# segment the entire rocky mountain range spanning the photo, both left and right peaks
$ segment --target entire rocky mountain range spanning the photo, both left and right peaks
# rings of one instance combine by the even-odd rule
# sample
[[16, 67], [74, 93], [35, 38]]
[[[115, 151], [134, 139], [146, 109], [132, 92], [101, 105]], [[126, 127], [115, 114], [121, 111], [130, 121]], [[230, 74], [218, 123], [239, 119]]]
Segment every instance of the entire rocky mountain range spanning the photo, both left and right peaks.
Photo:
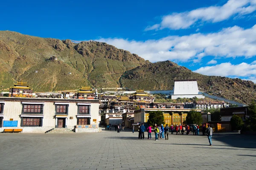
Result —
[[255, 99], [256, 84], [241, 79], [205, 76], [174, 62], [145, 61], [137, 54], [104, 42], [73, 43], [0, 31], [0, 86], [28, 82], [33, 91], [126, 87], [172, 90], [174, 79], [198, 80], [200, 91], [241, 103]]

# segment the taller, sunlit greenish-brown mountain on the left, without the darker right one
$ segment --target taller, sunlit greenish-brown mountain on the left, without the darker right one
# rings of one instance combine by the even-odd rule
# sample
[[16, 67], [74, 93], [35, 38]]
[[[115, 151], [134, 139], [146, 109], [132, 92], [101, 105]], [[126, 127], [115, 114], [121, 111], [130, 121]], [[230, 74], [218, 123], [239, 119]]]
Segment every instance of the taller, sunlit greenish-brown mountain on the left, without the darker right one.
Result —
[[0, 85], [28, 82], [34, 91], [119, 87], [125, 71], [148, 63], [104, 42], [73, 43], [0, 31]]

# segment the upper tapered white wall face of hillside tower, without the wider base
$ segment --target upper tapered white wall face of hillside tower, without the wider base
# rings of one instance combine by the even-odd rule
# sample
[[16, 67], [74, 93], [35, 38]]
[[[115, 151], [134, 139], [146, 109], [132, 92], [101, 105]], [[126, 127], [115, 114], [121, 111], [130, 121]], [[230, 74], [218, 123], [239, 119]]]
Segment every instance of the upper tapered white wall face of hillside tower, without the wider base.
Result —
[[174, 94], [198, 94], [197, 81], [174, 82]]

